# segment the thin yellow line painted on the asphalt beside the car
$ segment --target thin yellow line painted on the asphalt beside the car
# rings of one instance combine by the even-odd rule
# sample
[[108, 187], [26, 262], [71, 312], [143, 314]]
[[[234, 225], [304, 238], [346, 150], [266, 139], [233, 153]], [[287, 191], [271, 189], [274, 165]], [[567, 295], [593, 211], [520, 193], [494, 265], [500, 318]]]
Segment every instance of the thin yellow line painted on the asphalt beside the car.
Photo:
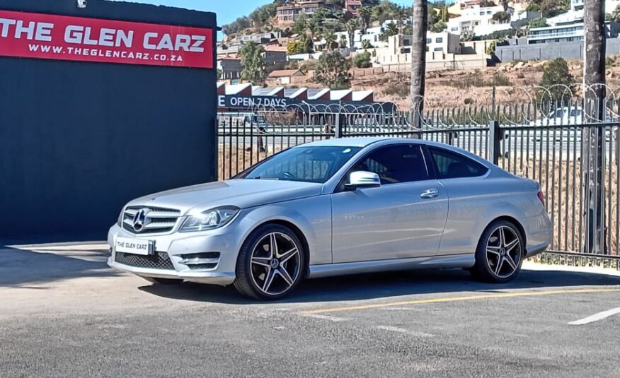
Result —
[[311, 309], [308, 311], [302, 311], [302, 314], [326, 314], [328, 312], [345, 312], [345, 311], [355, 311], [359, 309], [376, 309], [376, 308], [391, 307], [391, 306], [424, 305], [427, 303], [461, 302], [461, 301], [466, 301], [466, 300], [488, 300], [488, 299], [512, 298], [512, 297], [533, 297], [536, 295], [611, 293], [611, 292], [620, 292], [620, 288], [617, 288], [617, 289], [567, 289], [567, 290], [527, 291], [527, 292], [519, 292], [519, 293], [466, 295], [466, 296], [461, 296], [461, 297], [443, 297], [443, 298], [431, 298], [427, 300], [406, 300], [406, 301], [401, 301], [401, 302], [377, 303], [374, 305], [359, 305], [359, 306], [348, 306], [348, 307], [333, 307], [333, 308], [326, 308], [326, 309]]

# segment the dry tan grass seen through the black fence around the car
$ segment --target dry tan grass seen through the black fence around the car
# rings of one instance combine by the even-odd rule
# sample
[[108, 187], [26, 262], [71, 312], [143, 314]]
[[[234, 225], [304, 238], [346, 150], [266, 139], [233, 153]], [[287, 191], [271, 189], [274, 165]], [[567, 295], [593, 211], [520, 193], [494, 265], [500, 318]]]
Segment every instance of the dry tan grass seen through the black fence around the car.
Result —
[[[266, 152], [258, 152], [257, 146], [252, 150], [243, 150], [242, 147], [219, 146], [219, 179], [228, 179], [236, 173], [250, 167], [264, 158], [277, 153], [282, 148], [270, 148]], [[585, 206], [582, 204], [582, 189], [580, 178], [580, 161], [567, 161], [566, 156], [562, 163], [556, 161], [549, 166], [541, 159], [512, 156], [512, 160], [500, 160], [500, 166], [521, 177], [527, 177], [540, 182], [546, 194], [546, 206], [553, 220], [554, 238], [550, 249], [557, 251], [580, 252], [584, 250], [585, 223], [583, 214]], [[560, 160], [559, 157], [556, 160]], [[617, 203], [619, 201], [618, 170], [615, 164], [607, 166], [605, 181], [606, 190], [605, 224], [608, 230], [607, 248], [612, 254], [618, 254], [620, 222]], [[609, 184], [611, 183], [611, 184]], [[609, 194], [611, 191], [611, 195]], [[611, 203], [609, 202], [611, 200]], [[611, 205], [611, 206], [609, 206]], [[611, 208], [611, 211], [609, 209]]]

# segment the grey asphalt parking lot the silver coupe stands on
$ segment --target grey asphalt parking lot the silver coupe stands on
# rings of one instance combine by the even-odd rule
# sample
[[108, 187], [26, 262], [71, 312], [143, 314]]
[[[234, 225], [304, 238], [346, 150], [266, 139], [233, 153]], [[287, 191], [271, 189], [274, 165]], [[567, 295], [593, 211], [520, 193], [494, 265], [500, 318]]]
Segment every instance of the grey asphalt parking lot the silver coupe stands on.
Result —
[[258, 303], [105, 259], [105, 245], [0, 249], [0, 377], [620, 377], [620, 272], [371, 274]]

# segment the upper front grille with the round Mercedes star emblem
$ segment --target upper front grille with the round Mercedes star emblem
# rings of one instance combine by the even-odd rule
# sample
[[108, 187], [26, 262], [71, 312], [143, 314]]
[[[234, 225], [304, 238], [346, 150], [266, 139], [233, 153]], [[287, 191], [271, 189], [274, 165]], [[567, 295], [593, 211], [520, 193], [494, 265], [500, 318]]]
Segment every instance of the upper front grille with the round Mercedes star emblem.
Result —
[[[142, 211], [139, 224], [136, 215]], [[180, 211], [173, 208], [156, 208], [151, 206], [130, 206], [122, 215], [122, 228], [139, 235], [171, 232], [180, 216]], [[137, 227], [138, 226], [138, 227]]]

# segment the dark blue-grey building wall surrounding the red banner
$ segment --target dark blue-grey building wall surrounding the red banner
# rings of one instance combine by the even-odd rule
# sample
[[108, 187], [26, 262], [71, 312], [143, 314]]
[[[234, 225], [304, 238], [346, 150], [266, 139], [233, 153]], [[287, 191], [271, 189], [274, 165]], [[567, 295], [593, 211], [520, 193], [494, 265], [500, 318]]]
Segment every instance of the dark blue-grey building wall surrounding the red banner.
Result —
[[[214, 13], [116, 1], [0, 9], [217, 25]], [[103, 240], [130, 199], [217, 179], [215, 87], [214, 69], [0, 57], [0, 242]]]

